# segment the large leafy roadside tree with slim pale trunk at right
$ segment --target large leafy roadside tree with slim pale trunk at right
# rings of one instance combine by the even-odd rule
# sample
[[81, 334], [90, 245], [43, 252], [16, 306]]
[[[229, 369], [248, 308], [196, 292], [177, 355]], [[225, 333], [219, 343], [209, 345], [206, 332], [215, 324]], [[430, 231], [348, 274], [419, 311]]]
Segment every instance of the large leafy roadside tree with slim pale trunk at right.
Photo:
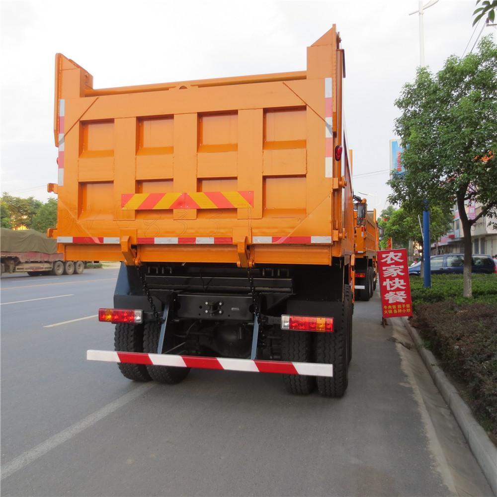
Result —
[[[395, 104], [404, 147], [403, 175], [389, 181], [390, 201], [419, 211], [425, 199], [442, 210], [457, 204], [463, 228], [464, 296], [471, 297], [471, 227], [497, 216], [497, 46], [484, 38], [478, 53], [449, 57], [432, 75], [417, 70]], [[468, 202], [481, 212], [469, 219]]]

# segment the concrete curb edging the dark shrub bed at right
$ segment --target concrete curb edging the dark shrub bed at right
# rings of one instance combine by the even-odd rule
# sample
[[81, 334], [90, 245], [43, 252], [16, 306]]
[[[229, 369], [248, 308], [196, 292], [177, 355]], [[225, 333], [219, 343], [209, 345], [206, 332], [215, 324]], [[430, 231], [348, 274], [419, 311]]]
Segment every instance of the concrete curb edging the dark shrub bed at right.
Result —
[[445, 373], [438, 366], [435, 356], [426, 350], [421, 342], [419, 333], [413, 328], [407, 318], [401, 318], [406, 330], [411, 335], [419, 355], [421, 356], [426, 369], [428, 370], [433, 383], [442, 394], [443, 399], [449, 406], [452, 414], [456, 418], [464, 438], [470, 446], [471, 452], [475, 456], [480, 468], [487, 478], [492, 492], [497, 496], [497, 448], [487, 435], [487, 432], [480, 426], [469, 406], [464, 402], [456, 388], [447, 379]]

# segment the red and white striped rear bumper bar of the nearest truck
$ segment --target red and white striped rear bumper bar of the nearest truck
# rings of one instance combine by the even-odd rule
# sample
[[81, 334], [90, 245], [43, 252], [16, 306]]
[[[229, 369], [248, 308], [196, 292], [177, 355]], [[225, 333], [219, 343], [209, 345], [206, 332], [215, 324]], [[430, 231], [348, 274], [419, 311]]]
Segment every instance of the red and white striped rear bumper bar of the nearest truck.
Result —
[[145, 354], [142, 352], [114, 352], [112, 350], [87, 350], [88, 361], [124, 362], [150, 366], [180, 368], [222, 369], [249, 373], [282, 373], [307, 376], [333, 376], [332, 364], [311, 362], [252, 361], [226, 357], [198, 357], [191, 355]]

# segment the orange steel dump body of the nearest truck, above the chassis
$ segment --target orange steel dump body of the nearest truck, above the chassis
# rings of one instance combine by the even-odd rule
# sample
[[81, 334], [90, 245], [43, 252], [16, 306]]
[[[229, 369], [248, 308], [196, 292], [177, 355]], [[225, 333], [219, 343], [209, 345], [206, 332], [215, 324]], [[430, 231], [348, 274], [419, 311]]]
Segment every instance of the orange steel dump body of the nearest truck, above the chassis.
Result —
[[[293, 73], [94, 89], [87, 71], [57, 54], [63, 160], [49, 190], [59, 195], [59, 250], [128, 264], [331, 264], [352, 255], [343, 78], [334, 25], [307, 48], [306, 71]], [[231, 244], [140, 243], [213, 237]]]

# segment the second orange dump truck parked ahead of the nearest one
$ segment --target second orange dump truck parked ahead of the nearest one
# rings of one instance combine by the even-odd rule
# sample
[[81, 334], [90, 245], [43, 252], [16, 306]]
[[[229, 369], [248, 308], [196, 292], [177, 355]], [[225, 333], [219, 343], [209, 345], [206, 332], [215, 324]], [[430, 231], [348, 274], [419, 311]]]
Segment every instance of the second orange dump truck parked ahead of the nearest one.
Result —
[[354, 196], [354, 288], [356, 300], [369, 300], [376, 290], [378, 267], [376, 252], [380, 249], [376, 209], [367, 210], [365, 198]]

